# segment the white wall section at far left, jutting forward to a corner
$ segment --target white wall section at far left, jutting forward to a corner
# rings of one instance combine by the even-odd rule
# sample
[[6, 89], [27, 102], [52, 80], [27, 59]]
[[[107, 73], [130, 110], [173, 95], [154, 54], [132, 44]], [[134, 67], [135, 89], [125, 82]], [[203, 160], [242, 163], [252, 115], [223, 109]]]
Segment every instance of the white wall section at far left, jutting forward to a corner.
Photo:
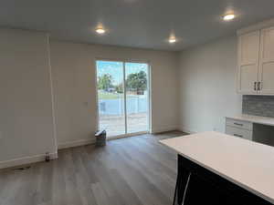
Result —
[[0, 29], [0, 168], [56, 156], [48, 38]]

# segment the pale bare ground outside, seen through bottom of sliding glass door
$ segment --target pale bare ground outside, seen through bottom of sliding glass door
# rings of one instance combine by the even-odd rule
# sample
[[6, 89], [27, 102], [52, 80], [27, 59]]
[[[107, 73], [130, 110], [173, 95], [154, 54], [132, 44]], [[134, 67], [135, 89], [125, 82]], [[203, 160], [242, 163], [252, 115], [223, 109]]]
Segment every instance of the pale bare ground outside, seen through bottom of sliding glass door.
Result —
[[[147, 113], [130, 114], [127, 118], [128, 133], [147, 131], [148, 115]], [[107, 130], [107, 137], [113, 137], [125, 134], [123, 116], [100, 116], [100, 129]]]

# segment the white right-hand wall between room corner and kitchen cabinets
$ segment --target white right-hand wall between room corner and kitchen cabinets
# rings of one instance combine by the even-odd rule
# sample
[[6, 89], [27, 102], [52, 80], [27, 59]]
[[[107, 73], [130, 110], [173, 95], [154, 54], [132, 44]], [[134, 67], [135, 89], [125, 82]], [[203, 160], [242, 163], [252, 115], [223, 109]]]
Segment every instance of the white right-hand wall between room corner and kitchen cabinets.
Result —
[[238, 113], [241, 96], [237, 95], [237, 37], [181, 52], [181, 129], [224, 132], [225, 117]]

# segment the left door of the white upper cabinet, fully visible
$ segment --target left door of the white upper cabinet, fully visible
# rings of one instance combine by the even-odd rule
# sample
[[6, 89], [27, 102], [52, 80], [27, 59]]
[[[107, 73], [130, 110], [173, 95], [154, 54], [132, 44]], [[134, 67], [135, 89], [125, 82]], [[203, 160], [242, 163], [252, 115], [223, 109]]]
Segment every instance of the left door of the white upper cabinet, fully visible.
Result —
[[257, 94], [259, 31], [238, 38], [238, 91]]

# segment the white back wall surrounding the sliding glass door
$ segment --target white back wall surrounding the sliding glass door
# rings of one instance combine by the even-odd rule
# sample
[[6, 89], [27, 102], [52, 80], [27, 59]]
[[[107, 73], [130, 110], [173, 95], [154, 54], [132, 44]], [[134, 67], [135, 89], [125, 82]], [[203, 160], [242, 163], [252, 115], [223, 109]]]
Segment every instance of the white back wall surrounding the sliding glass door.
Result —
[[50, 48], [59, 147], [94, 138], [96, 58], [150, 61], [153, 132], [178, 128], [176, 53], [58, 41], [51, 41]]

